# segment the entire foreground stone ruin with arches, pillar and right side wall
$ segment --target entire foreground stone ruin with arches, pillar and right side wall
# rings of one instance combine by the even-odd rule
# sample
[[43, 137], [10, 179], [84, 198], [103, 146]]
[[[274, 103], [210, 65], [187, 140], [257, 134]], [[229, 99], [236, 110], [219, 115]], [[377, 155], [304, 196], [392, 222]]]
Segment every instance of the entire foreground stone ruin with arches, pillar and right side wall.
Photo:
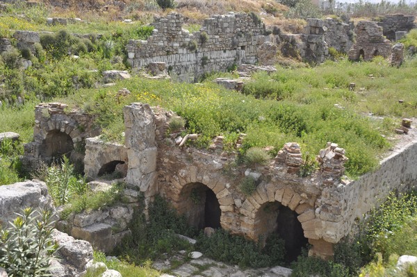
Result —
[[[341, 178], [347, 160], [344, 149], [329, 143], [318, 153], [320, 170], [302, 178], [302, 149], [295, 142], [285, 144], [267, 166], [234, 168], [231, 164], [236, 153], [224, 152], [222, 137], [213, 140], [213, 147], [202, 150], [183, 145], [186, 138], [179, 133], [166, 136], [170, 120], [177, 116], [162, 108], [143, 103], [125, 106], [125, 143], [119, 145], [90, 137], [94, 132], [89, 128], [72, 133], [68, 126], [82, 118], [88, 127], [90, 119], [64, 107], [59, 103], [37, 106], [35, 142], [28, 146], [45, 150], [38, 151], [37, 156], [27, 151], [26, 158], [48, 161], [53, 156], [51, 150], [47, 151], [49, 147], [56, 153], [65, 153], [71, 144], [67, 136], [71, 142], [79, 137], [76, 141], [85, 138], [86, 142], [84, 162], [88, 178], [114, 171], [125, 174], [124, 195], [129, 203], [101, 210], [99, 215], [74, 215], [60, 223], [60, 230], [105, 251], [129, 232], [126, 226], [141, 192], [145, 203], [161, 194], [197, 228], [224, 228], [251, 240], [279, 233], [286, 240], [289, 258], [297, 257], [307, 242], [313, 245], [310, 255], [330, 258], [333, 245], [350, 232], [355, 221], [377, 199], [394, 189], [406, 190], [417, 178], [416, 142], [384, 160], [377, 171], [352, 182]], [[56, 125], [57, 118], [63, 119], [60, 126]], [[47, 137], [52, 135], [60, 143], [49, 143]], [[256, 183], [256, 191], [249, 196], [240, 191], [240, 183], [246, 178]], [[92, 182], [91, 186], [94, 190], [106, 190], [111, 184]]]

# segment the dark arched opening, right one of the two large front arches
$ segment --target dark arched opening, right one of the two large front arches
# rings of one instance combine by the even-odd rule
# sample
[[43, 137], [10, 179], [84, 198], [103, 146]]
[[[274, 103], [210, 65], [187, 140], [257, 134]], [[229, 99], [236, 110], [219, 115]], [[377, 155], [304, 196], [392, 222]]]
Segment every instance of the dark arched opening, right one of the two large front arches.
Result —
[[257, 233], [263, 235], [264, 238], [277, 233], [285, 241], [286, 262], [297, 260], [302, 249], [309, 242], [304, 237], [304, 230], [297, 216], [295, 211], [278, 201], [264, 203], [256, 212]]

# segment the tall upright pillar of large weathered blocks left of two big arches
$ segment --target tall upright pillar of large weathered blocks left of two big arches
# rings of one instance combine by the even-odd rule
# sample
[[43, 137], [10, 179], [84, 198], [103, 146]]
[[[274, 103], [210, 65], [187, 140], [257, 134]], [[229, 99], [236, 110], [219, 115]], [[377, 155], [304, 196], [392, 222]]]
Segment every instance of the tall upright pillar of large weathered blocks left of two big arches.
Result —
[[148, 104], [131, 103], [123, 108], [125, 146], [129, 167], [126, 183], [138, 187], [145, 197], [154, 196], [156, 187], [156, 124]]

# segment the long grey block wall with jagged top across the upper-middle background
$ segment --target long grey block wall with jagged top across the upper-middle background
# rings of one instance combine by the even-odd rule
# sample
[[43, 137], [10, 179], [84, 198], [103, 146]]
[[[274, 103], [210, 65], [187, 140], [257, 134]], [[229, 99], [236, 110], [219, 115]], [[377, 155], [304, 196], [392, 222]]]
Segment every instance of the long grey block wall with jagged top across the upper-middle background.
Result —
[[165, 62], [171, 76], [195, 81], [207, 72], [256, 62], [257, 48], [264, 42], [262, 22], [243, 13], [214, 15], [193, 34], [182, 28], [183, 22], [177, 13], [156, 17], [147, 40], [131, 40], [126, 46], [132, 67]]

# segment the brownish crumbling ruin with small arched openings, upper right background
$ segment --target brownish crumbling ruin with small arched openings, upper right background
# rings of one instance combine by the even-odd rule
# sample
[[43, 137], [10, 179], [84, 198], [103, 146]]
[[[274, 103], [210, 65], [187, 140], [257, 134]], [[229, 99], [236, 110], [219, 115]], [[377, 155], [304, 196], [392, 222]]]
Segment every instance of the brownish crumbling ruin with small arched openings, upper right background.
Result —
[[354, 28], [356, 43], [349, 51], [350, 60], [372, 60], [375, 56], [388, 58], [393, 45], [382, 34], [382, 27], [377, 22], [361, 21]]

